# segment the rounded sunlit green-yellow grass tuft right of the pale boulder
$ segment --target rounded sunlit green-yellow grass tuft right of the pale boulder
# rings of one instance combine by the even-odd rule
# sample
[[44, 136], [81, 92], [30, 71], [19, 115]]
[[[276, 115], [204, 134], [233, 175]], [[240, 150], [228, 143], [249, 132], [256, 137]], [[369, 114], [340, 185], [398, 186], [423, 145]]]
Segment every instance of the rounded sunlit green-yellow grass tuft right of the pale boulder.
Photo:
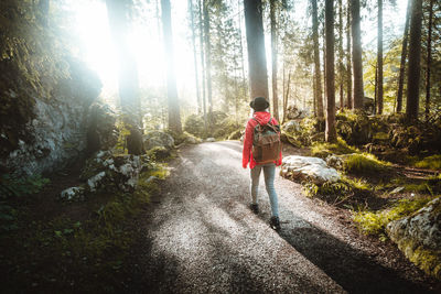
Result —
[[343, 170], [348, 173], [375, 173], [386, 171], [388, 166], [390, 163], [380, 161], [370, 153], [362, 153], [349, 155], [343, 164]]

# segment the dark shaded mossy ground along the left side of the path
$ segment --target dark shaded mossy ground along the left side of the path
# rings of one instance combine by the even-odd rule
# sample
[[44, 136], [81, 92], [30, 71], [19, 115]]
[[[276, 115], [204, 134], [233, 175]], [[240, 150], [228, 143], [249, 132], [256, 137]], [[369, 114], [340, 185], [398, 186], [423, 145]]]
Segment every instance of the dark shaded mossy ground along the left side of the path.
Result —
[[[78, 175], [79, 172], [76, 173]], [[143, 173], [132, 194], [101, 194], [85, 203], [55, 200], [75, 176], [58, 176], [40, 193], [14, 200], [15, 228], [0, 236], [3, 290], [26, 292], [120, 292], [127, 252], [136, 239], [131, 219], [158, 189], [166, 168]]]

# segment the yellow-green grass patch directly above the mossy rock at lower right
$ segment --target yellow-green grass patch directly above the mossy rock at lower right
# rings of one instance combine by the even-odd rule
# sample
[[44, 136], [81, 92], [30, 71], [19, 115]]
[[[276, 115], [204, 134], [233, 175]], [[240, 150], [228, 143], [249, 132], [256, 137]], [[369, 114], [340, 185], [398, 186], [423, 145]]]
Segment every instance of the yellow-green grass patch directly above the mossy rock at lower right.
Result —
[[353, 219], [362, 232], [366, 235], [379, 235], [385, 238], [385, 228], [387, 224], [413, 214], [432, 199], [432, 197], [401, 199], [389, 209], [354, 213]]

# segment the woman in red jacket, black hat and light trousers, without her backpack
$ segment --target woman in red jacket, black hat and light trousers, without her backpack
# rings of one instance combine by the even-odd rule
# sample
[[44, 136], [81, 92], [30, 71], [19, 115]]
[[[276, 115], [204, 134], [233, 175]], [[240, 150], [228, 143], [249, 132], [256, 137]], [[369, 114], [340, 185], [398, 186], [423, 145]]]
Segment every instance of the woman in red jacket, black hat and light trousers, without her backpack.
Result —
[[270, 225], [271, 228], [275, 230], [280, 229], [280, 221], [279, 221], [279, 207], [277, 200], [277, 194], [275, 189], [275, 174], [276, 174], [276, 165], [279, 166], [282, 162], [282, 153], [280, 152], [279, 157], [271, 163], [259, 164], [255, 161], [252, 156], [252, 142], [254, 142], [254, 131], [256, 126], [259, 123], [260, 126], [265, 126], [268, 122], [272, 123], [273, 126], [278, 126], [276, 119], [271, 118], [271, 115], [266, 111], [269, 107], [269, 102], [263, 97], [255, 98], [249, 106], [254, 109], [252, 118], [248, 120], [247, 128], [245, 130], [245, 138], [244, 138], [244, 150], [241, 156], [241, 165], [244, 168], [247, 168], [249, 163], [249, 168], [251, 168], [251, 205], [250, 208], [255, 214], [259, 213], [259, 205], [257, 200], [257, 194], [259, 188], [259, 177], [260, 172], [263, 168], [263, 176], [265, 176], [265, 185], [267, 187], [269, 202], [271, 204], [271, 220]]

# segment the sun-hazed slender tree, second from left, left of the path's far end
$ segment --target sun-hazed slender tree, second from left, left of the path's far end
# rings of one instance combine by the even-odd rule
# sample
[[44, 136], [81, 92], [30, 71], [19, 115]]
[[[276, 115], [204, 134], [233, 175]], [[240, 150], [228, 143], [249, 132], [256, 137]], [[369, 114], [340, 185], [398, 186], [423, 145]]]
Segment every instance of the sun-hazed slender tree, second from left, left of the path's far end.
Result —
[[174, 74], [173, 31], [170, 0], [161, 0], [161, 10], [164, 50], [166, 57], [166, 96], [169, 101], [169, 128], [176, 133], [182, 133], [176, 78]]

